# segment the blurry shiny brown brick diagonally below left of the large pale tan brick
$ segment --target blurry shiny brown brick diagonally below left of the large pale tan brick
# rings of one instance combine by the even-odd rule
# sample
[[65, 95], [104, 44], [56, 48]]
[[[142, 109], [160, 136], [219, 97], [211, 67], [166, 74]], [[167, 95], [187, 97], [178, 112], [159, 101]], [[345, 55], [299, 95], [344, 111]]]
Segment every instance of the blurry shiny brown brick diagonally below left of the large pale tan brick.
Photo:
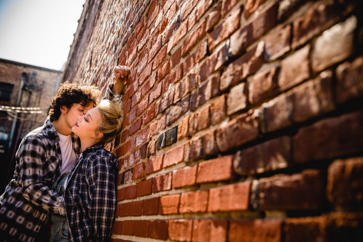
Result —
[[292, 90], [292, 120], [304, 122], [334, 109], [333, 74], [321, 73], [315, 80], [308, 81]]

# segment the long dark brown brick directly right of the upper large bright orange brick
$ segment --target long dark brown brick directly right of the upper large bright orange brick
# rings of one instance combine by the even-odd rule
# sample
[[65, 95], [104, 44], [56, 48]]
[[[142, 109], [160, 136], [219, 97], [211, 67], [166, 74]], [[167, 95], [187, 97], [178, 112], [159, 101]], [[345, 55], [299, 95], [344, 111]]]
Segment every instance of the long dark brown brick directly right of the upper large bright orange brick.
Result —
[[286, 168], [291, 163], [292, 139], [283, 136], [238, 151], [233, 159], [234, 172], [241, 175]]

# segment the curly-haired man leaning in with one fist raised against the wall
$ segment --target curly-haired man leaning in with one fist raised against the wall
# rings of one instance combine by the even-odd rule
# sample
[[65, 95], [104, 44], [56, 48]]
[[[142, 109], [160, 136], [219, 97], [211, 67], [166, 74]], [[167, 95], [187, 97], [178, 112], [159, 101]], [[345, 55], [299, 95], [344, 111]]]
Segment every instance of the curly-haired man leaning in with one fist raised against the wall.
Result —
[[[115, 67], [115, 82], [108, 86], [108, 98], [122, 93], [129, 72], [129, 67]], [[64, 200], [51, 187], [59, 175], [75, 165], [81, 146], [72, 127], [100, 97], [96, 86], [63, 83], [52, 99], [44, 125], [23, 138], [16, 153], [14, 178], [0, 196], [2, 241], [41, 241], [47, 214], [65, 215], [64, 205], [60, 206]]]

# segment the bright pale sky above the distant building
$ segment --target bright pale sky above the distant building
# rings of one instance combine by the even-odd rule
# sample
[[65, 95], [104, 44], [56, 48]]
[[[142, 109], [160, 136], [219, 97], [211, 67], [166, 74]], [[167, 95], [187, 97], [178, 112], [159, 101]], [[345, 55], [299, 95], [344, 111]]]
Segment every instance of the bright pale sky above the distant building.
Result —
[[86, 0], [0, 0], [0, 58], [61, 70]]

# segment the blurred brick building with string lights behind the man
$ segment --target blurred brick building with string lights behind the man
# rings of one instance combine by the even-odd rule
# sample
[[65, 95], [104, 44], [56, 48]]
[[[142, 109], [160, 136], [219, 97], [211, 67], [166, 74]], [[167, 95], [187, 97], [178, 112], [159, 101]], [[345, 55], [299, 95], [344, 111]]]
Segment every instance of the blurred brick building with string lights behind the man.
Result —
[[42, 126], [62, 71], [0, 58], [0, 192], [13, 176], [24, 135]]

